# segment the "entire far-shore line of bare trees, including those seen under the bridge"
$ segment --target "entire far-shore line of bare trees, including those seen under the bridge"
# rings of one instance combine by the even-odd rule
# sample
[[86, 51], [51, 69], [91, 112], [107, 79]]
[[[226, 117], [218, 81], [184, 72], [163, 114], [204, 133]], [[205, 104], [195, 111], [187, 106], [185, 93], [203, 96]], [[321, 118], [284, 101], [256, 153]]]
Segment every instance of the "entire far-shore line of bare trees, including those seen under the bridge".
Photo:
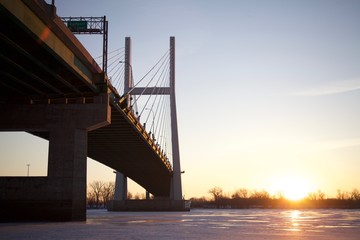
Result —
[[[93, 181], [87, 189], [88, 208], [106, 208], [114, 199], [115, 183]], [[271, 195], [266, 190], [240, 188], [225, 193], [221, 187], [209, 189], [210, 198], [191, 198], [192, 208], [360, 208], [360, 191], [337, 190], [335, 198], [327, 198], [321, 190], [311, 192], [302, 200], [291, 201], [283, 193]], [[128, 192], [127, 199], [145, 199], [145, 193]]]

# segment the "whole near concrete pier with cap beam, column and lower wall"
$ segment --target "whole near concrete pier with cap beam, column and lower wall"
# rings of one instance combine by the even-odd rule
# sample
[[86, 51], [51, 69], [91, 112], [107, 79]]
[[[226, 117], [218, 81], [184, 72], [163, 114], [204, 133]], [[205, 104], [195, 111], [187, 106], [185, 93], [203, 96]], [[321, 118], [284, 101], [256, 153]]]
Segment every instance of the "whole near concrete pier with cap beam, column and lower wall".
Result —
[[87, 133], [110, 123], [108, 96], [94, 104], [4, 104], [0, 111], [0, 130], [49, 138], [47, 177], [0, 178], [0, 221], [85, 221]]

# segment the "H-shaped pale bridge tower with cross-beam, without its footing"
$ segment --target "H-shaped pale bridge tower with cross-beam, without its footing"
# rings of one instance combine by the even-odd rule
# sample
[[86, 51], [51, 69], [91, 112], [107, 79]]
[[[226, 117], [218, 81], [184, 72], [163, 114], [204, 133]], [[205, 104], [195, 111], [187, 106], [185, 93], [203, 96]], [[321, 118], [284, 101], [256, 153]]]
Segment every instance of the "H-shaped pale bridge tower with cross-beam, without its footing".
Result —
[[[131, 39], [125, 38], [125, 77], [124, 77], [124, 92], [127, 96], [127, 106], [131, 106], [131, 100], [136, 95], [156, 95], [156, 89], [134, 87], [131, 65]], [[170, 37], [170, 86], [165, 87], [161, 91], [162, 95], [170, 96], [170, 119], [171, 119], [171, 141], [172, 141], [172, 155], [173, 155], [173, 175], [170, 186], [170, 200], [182, 200], [182, 186], [181, 186], [181, 167], [180, 167], [180, 151], [179, 151], [179, 137], [177, 126], [177, 112], [176, 112], [176, 98], [175, 98], [175, 37]], [[156, 87], [155, 87], [156, 88]], [[127, 178], [120, 172], [116, 173], [115, 182], [115, 200], [126, 200], [127, 195]], [[147, 192], [148, 198], [148, 192]]]

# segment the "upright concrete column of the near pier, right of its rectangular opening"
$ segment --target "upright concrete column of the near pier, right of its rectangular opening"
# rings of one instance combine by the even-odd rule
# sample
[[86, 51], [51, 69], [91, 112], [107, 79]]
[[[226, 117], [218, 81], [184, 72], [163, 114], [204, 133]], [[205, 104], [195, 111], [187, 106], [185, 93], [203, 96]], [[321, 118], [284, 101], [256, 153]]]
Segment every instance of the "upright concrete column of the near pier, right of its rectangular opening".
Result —
[[86, 220], [87, 131], [68, 121], [61, 125], [49, 132], [50, 197], [61, 203], [56, 211], [60, 219]]

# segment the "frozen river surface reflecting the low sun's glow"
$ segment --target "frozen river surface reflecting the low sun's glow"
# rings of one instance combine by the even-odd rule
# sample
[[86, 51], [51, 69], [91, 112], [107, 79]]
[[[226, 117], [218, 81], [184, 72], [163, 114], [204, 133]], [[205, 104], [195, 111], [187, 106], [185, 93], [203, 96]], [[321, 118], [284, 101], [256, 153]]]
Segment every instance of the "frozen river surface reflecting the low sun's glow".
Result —
[[360, 239], [360, 210], [89, 210], [87, 218], [0, 223], [0, 239]]

